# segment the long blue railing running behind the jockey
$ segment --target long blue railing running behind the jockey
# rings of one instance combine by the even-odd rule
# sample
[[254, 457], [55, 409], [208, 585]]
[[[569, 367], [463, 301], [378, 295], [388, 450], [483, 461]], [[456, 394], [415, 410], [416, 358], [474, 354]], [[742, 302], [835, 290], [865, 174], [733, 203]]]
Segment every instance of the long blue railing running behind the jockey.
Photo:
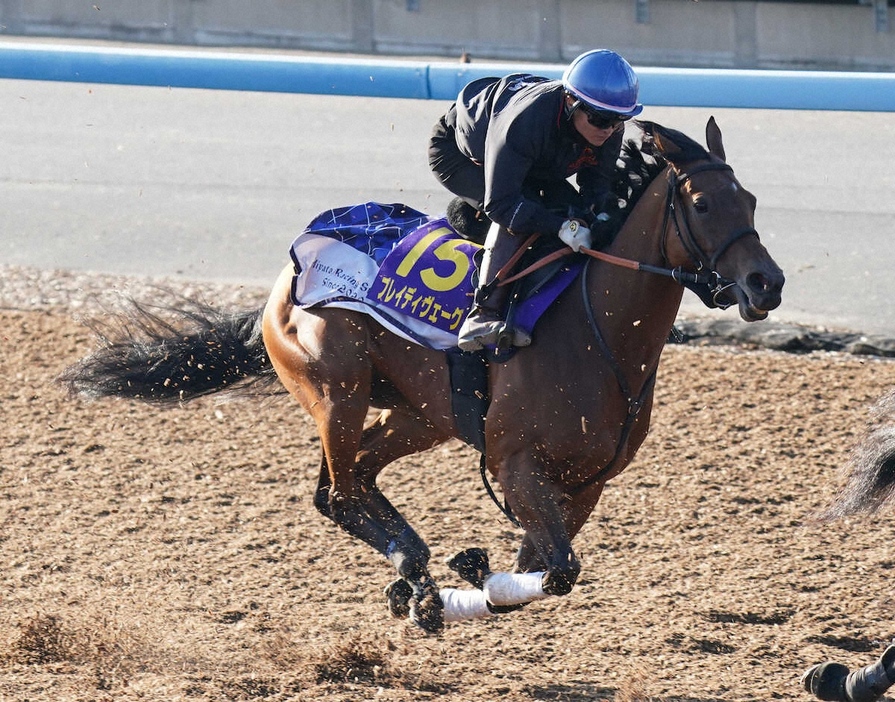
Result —
[[[676, 107], [895, 111], [895, 74], [636, 66], [641, 101]], [[0, 78], [453, 100], [485, 75], [556, 64], [462, 64], [0, 42]]]

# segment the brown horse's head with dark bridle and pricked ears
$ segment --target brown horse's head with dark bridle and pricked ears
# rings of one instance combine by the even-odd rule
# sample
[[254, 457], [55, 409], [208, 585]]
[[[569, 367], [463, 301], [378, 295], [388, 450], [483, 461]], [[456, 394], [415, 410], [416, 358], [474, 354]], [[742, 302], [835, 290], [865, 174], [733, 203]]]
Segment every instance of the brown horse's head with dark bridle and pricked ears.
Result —
[[747, 322], [764, 319], [780, 305], [784, 276], [759, 241], [755, 196], [727, 165], [715, 118], [706, 126], [708, 151], [675, 130], [651, 122], [640, 126], [670, 166], [665, 232], [669, 263], [730, 281], [723, 293], [727, 304], [735, 301]]

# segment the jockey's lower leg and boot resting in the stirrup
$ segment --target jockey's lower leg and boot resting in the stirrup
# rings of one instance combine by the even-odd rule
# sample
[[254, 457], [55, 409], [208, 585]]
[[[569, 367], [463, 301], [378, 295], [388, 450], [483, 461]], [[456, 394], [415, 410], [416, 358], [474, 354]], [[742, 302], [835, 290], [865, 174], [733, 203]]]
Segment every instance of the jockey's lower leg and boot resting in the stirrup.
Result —
[[[463, 351], [478, 351], [485, 346], [497, 344], [498, 341], [504, 345], [517, 346], [527, 346], [531, 343], [531, 338], [524, 332], [515, 335], [513, 330], [506, 329], [503, 308], [509, 287], [497, 285], [496, 280], [498, 271], [507, 264], [523, 243], [524, 238], [511, 234], [497, 224], [488, 230], [473, 308], [460, 327], [457, 339], [457, 345]], [[510, 335], [509, 338], [506, 337], [507, 334]]]

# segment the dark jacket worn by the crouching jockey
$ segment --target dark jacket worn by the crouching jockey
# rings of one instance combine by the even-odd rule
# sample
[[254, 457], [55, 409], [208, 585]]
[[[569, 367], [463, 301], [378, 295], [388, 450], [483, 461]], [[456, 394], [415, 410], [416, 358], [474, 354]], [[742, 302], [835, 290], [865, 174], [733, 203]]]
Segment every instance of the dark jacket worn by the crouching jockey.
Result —
[[600, 206], [624, 129], [595, 147], [578, 134], [560, 81], [516, 73], [469, 83], [445, 117], [460, 151], [485, 170], [485, 213], [518, 234], [556, 232], [567, 215], [524, 192], [576, 176], [585, 207]]

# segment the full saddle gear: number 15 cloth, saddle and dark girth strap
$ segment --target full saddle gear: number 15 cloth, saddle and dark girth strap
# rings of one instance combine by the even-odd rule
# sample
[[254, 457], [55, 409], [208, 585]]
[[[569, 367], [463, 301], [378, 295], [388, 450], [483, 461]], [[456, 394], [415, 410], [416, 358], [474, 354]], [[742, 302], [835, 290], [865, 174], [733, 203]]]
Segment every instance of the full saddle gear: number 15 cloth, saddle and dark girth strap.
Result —
[[[538, 238], [508, 278], [520, 276], [508, 283], [513, 287], [505, 314], [529, 334], [583, 265], [571, 256], [536, 265], [561, 247], [556, 237]], [[483, 451], [488, 363], [506, 362], [514, 351], [466, 353], [456, 346], [456, 329], [472, 303], [473, 260], [481, 247], [458, 237], [445, 219], [401, 203], [368, 202], [321, 213], [296, 238], [290, 254], [296, 306], [363, 312], [403, 338], [446, 353], [461, 438]]]

